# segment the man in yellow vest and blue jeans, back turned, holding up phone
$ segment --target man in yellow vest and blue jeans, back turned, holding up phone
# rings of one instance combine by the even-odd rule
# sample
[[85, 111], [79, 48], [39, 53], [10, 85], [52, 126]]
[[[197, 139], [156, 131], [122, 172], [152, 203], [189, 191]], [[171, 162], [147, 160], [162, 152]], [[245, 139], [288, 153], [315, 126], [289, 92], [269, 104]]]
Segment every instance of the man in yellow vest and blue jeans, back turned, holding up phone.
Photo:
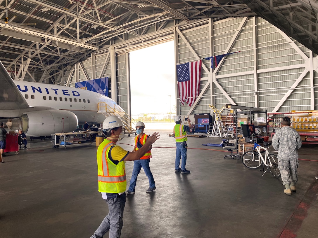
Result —
[[[188, 121], [189, 126], [181, 125], [181, 116], [175, 116], [176, 125], [173, 128], [173, 135], [176, 138], [176, 166], [175, 172], [181, 172], [181, 174], [189, 174], [190, 170], [185, 169], [185, 163], [187, 162], [187, 131], [191, 128], [191, 123], [189, 118], [185, 118]], [[180, 160], [181, 169], [180, 169]]]

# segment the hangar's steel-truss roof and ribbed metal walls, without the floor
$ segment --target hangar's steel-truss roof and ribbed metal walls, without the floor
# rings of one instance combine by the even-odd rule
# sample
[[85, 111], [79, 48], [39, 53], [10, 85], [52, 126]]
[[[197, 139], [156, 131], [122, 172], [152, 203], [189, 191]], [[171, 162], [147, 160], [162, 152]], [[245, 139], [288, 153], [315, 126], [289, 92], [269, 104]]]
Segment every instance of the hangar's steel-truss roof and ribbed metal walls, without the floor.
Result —
[[240, 51], [214, 70], [203, 60], [198, 100], [189, 107], [177, 98], [177, 114], [226, 103], [317, 107], [312, 1], [3, 0], [0, 8], [0, 61], [15, 80], [74, 87], [109, 77], [109, 96], [131, 115], [129, 51], [174, 40], [176, 64]]

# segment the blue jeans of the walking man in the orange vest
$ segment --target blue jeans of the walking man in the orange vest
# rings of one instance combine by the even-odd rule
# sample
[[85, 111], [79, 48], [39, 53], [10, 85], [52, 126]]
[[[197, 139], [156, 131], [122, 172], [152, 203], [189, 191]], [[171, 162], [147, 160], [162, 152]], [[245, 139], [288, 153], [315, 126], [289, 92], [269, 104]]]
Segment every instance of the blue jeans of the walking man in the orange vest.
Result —
[[150, 163], [150, 159], [134, 161], [133, 174], [131, 175], [130, 184], [128, 188], [129, 191], [135, 192], [137, 177], [140, 173], [141, 168], [145, 171], [145, 174], [147, 175], [149, 179], [149, 188], [155, 187], [155, 180], [154, 180], [154, 176], [152, 175], [150, 171], [149, 163]]

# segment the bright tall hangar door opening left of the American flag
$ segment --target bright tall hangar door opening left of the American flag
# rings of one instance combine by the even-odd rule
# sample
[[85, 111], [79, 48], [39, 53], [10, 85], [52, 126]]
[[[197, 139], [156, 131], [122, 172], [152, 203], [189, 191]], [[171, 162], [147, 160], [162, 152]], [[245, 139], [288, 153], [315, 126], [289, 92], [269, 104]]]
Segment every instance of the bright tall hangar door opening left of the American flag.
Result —
[[174, 41], [129, 52], [131, 116], [142, 122], [174, 122]]

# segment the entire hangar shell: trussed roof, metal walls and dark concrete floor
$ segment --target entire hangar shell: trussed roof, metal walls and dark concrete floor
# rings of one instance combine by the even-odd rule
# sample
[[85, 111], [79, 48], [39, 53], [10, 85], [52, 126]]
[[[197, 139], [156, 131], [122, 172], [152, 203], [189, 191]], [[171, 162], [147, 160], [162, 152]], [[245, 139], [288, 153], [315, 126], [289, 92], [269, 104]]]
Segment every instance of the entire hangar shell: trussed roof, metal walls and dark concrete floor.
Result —
[[[2, 0], [0, 9], [0, 61], [14, 80], [74, 87], [109, 77], [109, 96], [131, 115], [129, 52], [173, 40], [176, 65], [240, 51], [215, 69], [203, 59], [199, 96], [191, 107], [177, 97], [176, 114], [211, 113], [209, 105], [225, 104], [268, 113], [317, 110], [315, 1]], [[191, 173], [176, 174], [171, 129], [159, 131], [152, 150], [157, 189], [146, 194], [148, 178], [139, 175], [122, 237], [318, 233], [315, 146], [299, 151], [297, 193], [286, 196], [280, 178], [223, 159], [224, 149], [202, 148], [220, 138], [189, 138]], [[133, 139], [125, 137], [123, 148], [131, 150]], [[107, 214], [96, 187], [96, 148], [51, 147], [35, 141], [1, 164], [4, 237], [89, 237]], [[133, 164], [126, 166], [129, 178]]]

